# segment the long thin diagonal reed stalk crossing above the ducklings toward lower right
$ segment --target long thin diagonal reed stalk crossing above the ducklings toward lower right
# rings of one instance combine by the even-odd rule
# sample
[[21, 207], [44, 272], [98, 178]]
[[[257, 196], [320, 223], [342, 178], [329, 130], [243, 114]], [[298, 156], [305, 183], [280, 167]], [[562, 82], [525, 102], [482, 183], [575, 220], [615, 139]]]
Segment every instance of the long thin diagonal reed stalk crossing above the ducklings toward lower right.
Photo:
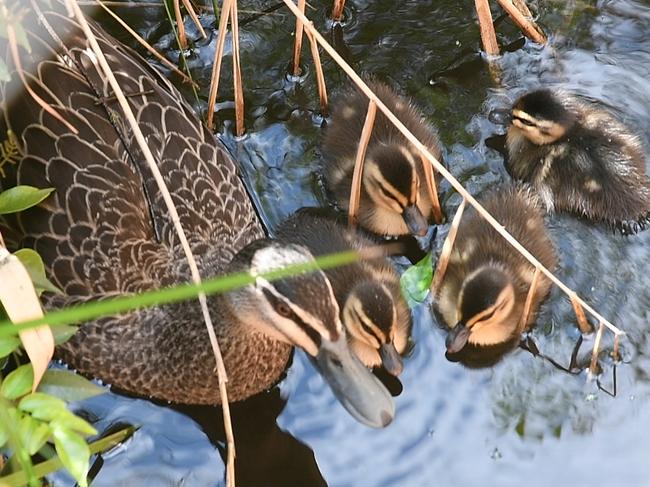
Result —
[[[474, 207], [476, 212], [481, 215], [481, 217], [486, 220], [495, 231], [501, 235], [512, 247], [515, 248], [517, 252], [524, 256], [524, 258], [530, 262], [536, 268], [539, 267], [540, 271], [548, 277], [548, 279], [558, 286], [562, 292], [566, 295], [571, 296], [571, 293], [575, 292], [566, 284], [564, 284], [560, 279], [558, 279], [555, 274], [549, 271], [546, 267], [539, 262], [535, 256], [533, 256], [528, 250], [521, 245], [517, 239], [510, 235], [506, 229], [501, 225], [481, 204], [476, 201], [470, 193], [463, 187], [462, 184], [443, 166], [440, 161], [438, 161], [433, 154], [429, 152], [427, 147], [420, 142], [417, 137], [415, 137], [411, 131], [406, 128], [406, 126], [399, 120], [393, 112], [391, 112], [388, 107], [373, 93], [373, 91], [368, 87], [368, 85], [359, 77], [359, 75], [352, 69], [352, 67], [340, 56], [338, 52], [325, 40], [325, 38], [312, 26], [307, 24], [309, 19], [301, 13], [297, 7], [291, 2], [291, 0], [282, 0], [283, 3], [291, 10], [291, 12], [305, 24], [305, 30], [309, 30], [322, 48], [331, 56], [332, 59], [345, 71], [345, 73], [350, 77], [350, 79], [357, 85], [360, 91], [365, 93], [368, 99], [375, 102], [377, 108], [382, 111], [382, 113], [391, 121], [391, 123], [406, 137], [406, 139], [413, 144], [413, 146], [420, 151], [425, 158], [433, 165], [434, 169], [438, 171], [442, 177], [444, 177], [449, 184], [463, 197], [467, 202]], [[577, 302], [586, 309], [594, 318], [602, 322], [607, 328], [609, 328], [613, 333], [624, 335], [625, 332], [621, 329], [614, 326], [609, 320], [604, 316], [598, 313], [592, 306], [590, 306], [584, 299], [576, 295]]]

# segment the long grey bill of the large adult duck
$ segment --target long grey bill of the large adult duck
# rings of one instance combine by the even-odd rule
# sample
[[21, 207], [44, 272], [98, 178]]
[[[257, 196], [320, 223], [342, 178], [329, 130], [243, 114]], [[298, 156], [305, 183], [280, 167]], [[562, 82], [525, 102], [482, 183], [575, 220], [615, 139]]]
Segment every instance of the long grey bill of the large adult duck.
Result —
[[312, 362], [345, 409], [372, 428], [388, 426], [395, 403], [384, 385], [357, 359], [341, 334], [336, 342], [323, 340]]

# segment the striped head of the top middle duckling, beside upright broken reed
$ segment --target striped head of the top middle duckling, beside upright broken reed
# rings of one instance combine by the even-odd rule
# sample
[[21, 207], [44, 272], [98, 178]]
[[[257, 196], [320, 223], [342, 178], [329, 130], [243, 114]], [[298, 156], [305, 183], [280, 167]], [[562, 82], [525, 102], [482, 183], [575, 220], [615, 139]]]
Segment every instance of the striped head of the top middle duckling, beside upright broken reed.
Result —
[[401, 215], [408, 232], [426, 235], [427, 219], [418, 208], [420, 178], [416, 159], [404, 145], [376, 145], [366, 157], [363, 187], [381, 210]]

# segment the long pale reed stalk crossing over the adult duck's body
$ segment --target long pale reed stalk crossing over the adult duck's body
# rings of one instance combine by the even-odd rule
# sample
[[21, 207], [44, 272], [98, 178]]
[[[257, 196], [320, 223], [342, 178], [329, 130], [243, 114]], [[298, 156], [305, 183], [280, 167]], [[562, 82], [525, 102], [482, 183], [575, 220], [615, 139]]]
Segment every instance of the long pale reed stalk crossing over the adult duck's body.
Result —
[[[88, 25], [88, 22], [86, 21], [86, 17], [81, 11], [81, 7], [79, 7], [79, 5], [77, 4], [77, 0], [68, 0], [68, 4], [72, 7], [74, 15], [77, 21], [79, 22], [79, 25], [81, 26], [81, 29], [83, 30], [86, 39], [88, 40], [88, 43], [90, 44], [91, 49], [93, 50], [95, 56], [97, 57], [97, 62], [99, 63], [101, 70], [106, 76], [111, 86], [111, 89], [113, 90], [118, 100], [118, 103], [120, 104], [120, 107], [124, 112], [124, 116], [126, 117], [131, 129], [133, 130], [133, 135], [135, 136], [138, 146], [140, 147], [140, 150], [142, 151], [142, 154], [147, 162], [147, 165], [151, 170], [151, 173], [158, 186], [158, 190], [160, 191], [160, 194], [162, 195], [163, 200], [165, 201], [165, 206], [167, 207], [167, 211], [169, 211], [170, 219], [174, 224], [174, 229], [176, 230], [179, 242], [185, 254], [185, 258], [187, 259], [187, 263], [189, 265], [190, 272], [192, 275], [192, 282], [195, 284], [200, 284], [201, 275], [199, 273], [199, 269], [196, 264], [196, 259], [194, 258], [190, 245], [187, 241], [187, 236], [185, 235], [185, 231], [183, 230], [183, 227], [180, 223], [178, 211], [176, 210], [171, 194], [169, 193], [169, 190], [165, 185], [165, 181], [162, 177], [162, 174], [160, 173], [160, 169], [158, 168], [158, 165], [156, 164], [156, 160], [151, 152], [151, 149], [147, 145], [147, 141], [145, 140], [144, 135], [140, 130], [140, 126], [138, 125], [138, 122], [135, 119], [133, 111], [131, 110], [131, 106], [129, 105], [129, 102], [127, 101], [126, 97], [124, 96], [124, 92], [122, 91], [120, 84], [117, 82], [117, 79], [115, 78], [115, 75], [111, 70], [111, 67], [106, 61], [106, 57], [104, 56], [104, 53], [99, 47], [97, 39], [95, 38], [95, 34], [90, 28], [90, 25]], [[221, 350], [219, 348], [217, 336], [214, 332], [214, 326], [212, 324], [212, 318], [210, 317], [210, 310], [208, 309], [208, 303], [205, 294], [204, 293], [199, 294], [198, 300], [201, 306], [201, 311], [203, 313], [203, 319], [205, 321], [205, 326], [208, 332], [208, 336], [210, 338], [210, 345], [212, 346], [212, 352], [214, 354], [214, 358], [216, 362], [217, 379], [219, 381], [219, 393], [221, 397], [221, 407], [223, 409], [226, 441], [228, 444], [226, 482], [229, 487], [234, 487], [235, 485], [235, 470], [234, 470], [235, 440], [232, 431], [232, 422], [230, 419], [230, 407], [228, 404], [228, 392], [226, 388], [226, 383], [228, 381], [226, 375], [226, 367], [223, 363], [223, 357], [221, 355]]]

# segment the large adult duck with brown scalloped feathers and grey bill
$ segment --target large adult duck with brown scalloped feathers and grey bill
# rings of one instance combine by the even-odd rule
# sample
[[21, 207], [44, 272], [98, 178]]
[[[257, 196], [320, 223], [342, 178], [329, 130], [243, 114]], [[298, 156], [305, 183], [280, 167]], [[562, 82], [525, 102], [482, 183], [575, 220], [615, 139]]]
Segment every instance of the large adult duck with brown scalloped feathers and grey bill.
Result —
[[[41, 8], [39, 2], [31, 5]], [[33, 26], [30, 43], [48, 50], [43, 59], [30, 60], [38, 76], [28, 79], [42, 103], [69, 125], [26, 94], [15, 72], [11, 85], [2, 86], [2, 96], [17, 96], [0, 104], [0, 133], [14, 131], [21, 157], [5, 167], [0, 191], [16, 184], [54, 188], [37, 207], [0, 217], [7, 246], [40, 253], [48, 277], [63, 290], [43, 296], [47, 309], [190, 282], [153, 174], [86, 37], [62, 4], [50, 5], [58, 10], [26, 17], [23, 24]], [[316, 271], [264, 278], [268, 271], [313, 262], [312, 254], [265, 238], [225, 146], [163, 76], [89, 22], [154, 151], [201, 275], [245, 271], [255, 277], [244, 287], [207, 297], [229, 400], [273, 386], [296, 346], [356, 419], [373, 427], [388, 424], [392, 398], [350, 350], [327, 277]], [[29, 54], [21, 56], [28, 65]], [[57, 356], [140, 396], [184, 404], [221, 401], [203, 315], [193, 300], [86, 322], [57, 347]]]

